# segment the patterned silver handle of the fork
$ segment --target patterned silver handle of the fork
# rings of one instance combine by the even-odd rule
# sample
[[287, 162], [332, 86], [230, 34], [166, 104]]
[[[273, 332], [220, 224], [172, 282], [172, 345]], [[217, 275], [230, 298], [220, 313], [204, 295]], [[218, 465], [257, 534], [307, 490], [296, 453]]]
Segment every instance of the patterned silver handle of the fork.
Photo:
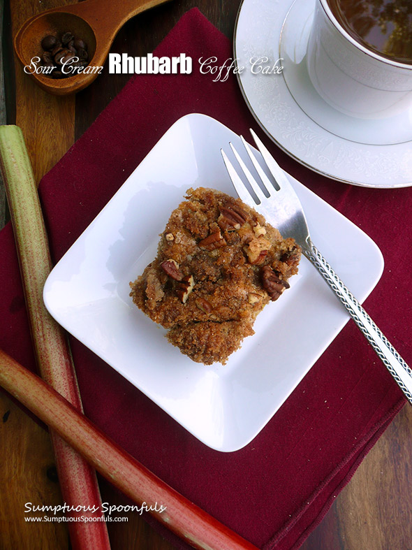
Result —
[[383, 335], [380, 328], [369, 317], [362, 305], [356, 300], [355, 296], [345, 287], [338, 275], [330, 267], [329, 263], [318, 251], [311, 239], [308, 238], [306, 245], [302, 247], [303, 254], [313, 263], [325, 281], [329, 284], [334, 294], [346, 307], [348, 314], [352, 317], [355, 324], [358, 325], [365, 338], [374, 348], [376, 354], [388, 368], [392, 377], [395, 378], [398, 386], [404, 392], [406, 399], [412, 405], [412, 370], [405, 363], [404, 359], [396, 351], [395, 347]]

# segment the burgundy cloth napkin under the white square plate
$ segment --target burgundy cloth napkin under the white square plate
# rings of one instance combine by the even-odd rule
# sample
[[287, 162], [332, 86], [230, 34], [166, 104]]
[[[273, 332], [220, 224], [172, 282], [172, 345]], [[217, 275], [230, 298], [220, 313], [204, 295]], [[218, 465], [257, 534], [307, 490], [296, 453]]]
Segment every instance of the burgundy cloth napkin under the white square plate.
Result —
[[[258, 131], [233, 75], [212, 82], [200, 74], [200, 57], [216, 55], [223, 63], [232, 53], [228, 38], [196, 9], [155, 53], [182, 52], [193, 58], [191, 75], [133, 76], [43, 178], [41, 198], [55, 261], [182, 115], [205, 113], [237, 133], [247, 133], [249, 126]], [[270, 148], [286, 170], [381, 248], [385, 270], [366, 307], [410, 361], [412, 189], [334, 182]], [[0, 270], [0, 346], [34, 369], [10, 226], [0, 233]], [[256, 439], [223, 454], [196, 440], [73, 338], [71, 345], [87, 416], [177, 491], [263, 549], [302, 544], [404, 403], [350, 321]], [[163, 534], [177, 548], [188, 548], [168, 531]]]

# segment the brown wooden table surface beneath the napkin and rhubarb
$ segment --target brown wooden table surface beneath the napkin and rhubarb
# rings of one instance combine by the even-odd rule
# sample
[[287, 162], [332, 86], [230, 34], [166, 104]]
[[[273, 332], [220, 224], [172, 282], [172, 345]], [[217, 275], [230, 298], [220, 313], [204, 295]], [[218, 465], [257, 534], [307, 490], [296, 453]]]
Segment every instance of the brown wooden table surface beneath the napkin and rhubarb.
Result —
[[[1, 0], [0, 0], [1, 1]], [[6, 75], [5, 115], [0, 82], [1, 124], [22, 127], [39, 181], [123, 87], [128, 75], [103, 73], [77, 96], [47, 95], [24, 75], [13, 60], [11, 38], [27, 17], [65, 0], [6, 0], [3, 36]], [[174, 0], [128, 22], [113, 45], [115, 52], [147, 55], [179, 17], [193, 6], [226, 36], [233, 36], [240, 0]], [[50, 138], [52, 136], [52, 138]], [[0, 186], [0, 226], [8, 220]], [[2, 419], [2, 420], [1, 420]], [[24, 503], [61, 502], [49, 436], [0, 393], [0, 550], [66, 550], [68, 532], [62, 523], [25, 523]], [[412, 549], [412, 408], [404, 407], [360, 465], [351, 482], [302, 550]], [[116, 504], [118, 495], [101, 482], [103, 500]], [[172, 550], [140, 516], [108, 524], [112, 549]]]

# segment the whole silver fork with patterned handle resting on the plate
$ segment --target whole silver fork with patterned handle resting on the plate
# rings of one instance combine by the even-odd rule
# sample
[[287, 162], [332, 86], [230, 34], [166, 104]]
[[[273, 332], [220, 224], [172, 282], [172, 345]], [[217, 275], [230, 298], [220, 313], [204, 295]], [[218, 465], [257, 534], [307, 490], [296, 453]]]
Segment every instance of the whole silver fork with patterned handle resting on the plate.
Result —
[[[230, 143], [230, 147], [235, 154], [242, 173], [247, 178], [258, 202], [256, 202], [256, 199], [249, 193], [242, 178], [240, 178], [240, 175], [222, 149], [221, 154], [223, 156], [223, 161], [226, 164], [230, 180], [232, 180], [237, 194], [244, 203], [258, 210], [258, 212], [265, 216], [269, 222], [271, 220], [276, 220], [277, 229], [279, 229], [282, 236], [295, 238], [295, 241], [302, 247], [304, 256], [306, 256], [316, 267], [318, 272], [321, 273], [332, 291], [334, 291], [334, 294], [336, 294], [337, 298], [339, 298], [344, 307], [346, 307], [348, 314], [352, 317], [353, 321], [355, 321], [355, 324], [360, 328], [363, 335], [365, 335], [369, 344], [374, 348], [376, 354], [378, 354], [379, 358], [388, 368], [390, 374], [395, 378], [400, 389], [404, 392], [406, 399], [409, 400], [409, 403], [412, 405], [411, 368], [409, 368], [404, 359], [402, 359], [396, 349], [388, 341], [388, 338], [383, 335], [374, 321], [372, 321], [353, 294], [348, 291], [344, 283], [339, 279], [338, 275], [334, 273], [334, 270], [332, 270], [329, 263], [322, 256], [321, 252], [319, 252], [314, 243], [312, 243], [302, 205], [295, 190], [279, 164], [277, 164], [265, 145], [263, 145], [262, 141], [256, 136], [256, 133], [251, 130], [251, 134], [278, 189], [275, 189], [274, 185], [265, 174], [265, 171], [263, 171], [263, 168], [258, 162], [255, 154], [253, 154], [249, 144], [240, 136], [256, 173], [260, 178], [262, 187], [260, 187], [256, 178], [252, 175], [251, 171], [249, 171], [246, 164], [244, 164], [242, 157], [237, 150], [235, 150], [233, 144]], [[268, 196], [265, 195], [262, 189], [265, 189]]]

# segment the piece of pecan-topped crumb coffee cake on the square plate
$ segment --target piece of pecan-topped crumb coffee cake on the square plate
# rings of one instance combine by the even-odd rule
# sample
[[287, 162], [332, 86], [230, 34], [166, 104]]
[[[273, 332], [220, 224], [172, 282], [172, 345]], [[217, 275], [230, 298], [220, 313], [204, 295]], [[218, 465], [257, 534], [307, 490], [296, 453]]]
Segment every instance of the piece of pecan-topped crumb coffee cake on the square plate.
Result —
[[300, 253], [239, 198], [189, 189], [131, 297], [183, 354], [224, 364], [253, 334], [257, 314], [289, 288]]

